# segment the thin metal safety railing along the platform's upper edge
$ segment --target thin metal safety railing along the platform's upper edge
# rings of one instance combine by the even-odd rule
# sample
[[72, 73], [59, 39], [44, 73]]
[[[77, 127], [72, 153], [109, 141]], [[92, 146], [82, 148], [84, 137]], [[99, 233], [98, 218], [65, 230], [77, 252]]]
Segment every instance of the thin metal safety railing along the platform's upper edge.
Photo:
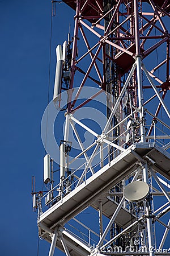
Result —
[[[130, 116], [129, 116], [130, 117]], [[39, 200], [39, 216], [42, 212], [45, 212], [46, 209], [51, 207], [52, 205], [56, 204], [58, 201], [63, 200], [63, 197], [65, 197], [68, 193], [73, 191], [75, 188], [77, 188], [80, 184], [86, 183], [87, 179], [94, 175], [95, 172], [99, 171], [103, 166], [110, 163], [110, 161], [116, 156], [120, 155], [122, 152], [126, 150], [129, 146], [135, 143], [140, 142], [140, 136], [139, 136], [139, 123], [137, 121], [134, 121], [134, 118], [130, 117], [129, 121], [126, 118], [125, 121], [120, 121], [118, 126], [124, 125], [128, 127], [127, 130], [123, 131], [120, 136], [114, 138], [109, 135], [113, 132], [114, 129], [116, 129], [116, 126], [113, 127], [108, 133], [106, 133], [106, 136], [104, 137], [103, 141], [103, 147], [100, 148], [99, 151], [97, 151], [94, 155], [89, 158], [89, 161], [91, 160], [91, 163], [94, 159], [96, 159], [96, 162], [94, 164], [88, 164], [87, 160], [84, 158], [84, 162], [80, 164], [78, 168], [75, 170], [70, 171], [70, 175], [65, 177], [65, 179], [60, 180], [60, 182], [50, 191], [45, 193], [45, 195], [40, 196]], [[151, 134], [147, 135], [147, 132], [151, 130]], [[159, 147], [162, 147], [164, 150], [168, 150], [170, 148], [170, 127], [164, 123], [159, 118], [153, 118], [151, 120], [150, 126], [145, 126], [146, 129], [146, 142], [154, 142]], [[113, 134], [113, 133], [112, 133]], [[99, 142], [99, 146], [101, 145], [101, 142]], [[115, 148], [114, 145], [118, 144], [118, 148]], [[97, 144], [97, 142], [94, 143], [94, 146]], [[112, 158], [110, 157], [109, 149], [112, 147]], [[88, 147], [84, 152], [88, 152], [92, 147]], [[107, 151], [105, 156], [103, 154], [103, 158], [101, 158], [101, 150]], [[77, 156], [73, 160], [71, 160], [71, 163], [76, 161], [76, 159], [80, 158], [83, 155], [83, 152]], [[94, 170], [94, 173], [91, 172], [90, 166]]]

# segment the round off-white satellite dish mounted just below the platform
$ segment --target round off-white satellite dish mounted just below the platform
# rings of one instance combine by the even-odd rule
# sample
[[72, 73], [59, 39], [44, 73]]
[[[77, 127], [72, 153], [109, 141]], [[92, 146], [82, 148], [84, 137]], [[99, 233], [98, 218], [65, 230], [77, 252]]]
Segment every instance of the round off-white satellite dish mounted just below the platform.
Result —
[[130, 202], [138, 202], [144, 200], [149, 192], [149, 186], [144, 181], [134, 181], [128, 184], [124, 189], [124, 197]]

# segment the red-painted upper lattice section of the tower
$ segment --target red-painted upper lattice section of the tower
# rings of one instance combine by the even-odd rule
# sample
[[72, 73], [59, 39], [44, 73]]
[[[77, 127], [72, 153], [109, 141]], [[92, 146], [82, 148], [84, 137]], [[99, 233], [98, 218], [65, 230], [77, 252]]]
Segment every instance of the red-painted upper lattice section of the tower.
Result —
[[[140, 2], [136, 1], [136, 7], [134, 9], [134, 3], [130, 0], [116, 0], [114, 6], [110, 6], [107, 13], [104, 11], [103, 0], [76, 0], [63, 1], [71, 8], [76, 11], [75, 14], [75, 27], [74, 27], [74, 38], [73, 38], [73, 55], [71, 60], [71, 81], [70, 89], [74, 89], [74, 76], [75, 72], [80, 72], [83, 75], [83, 79], [79, 81], [78, 92], [75, 98], [72, 98], [72, 91], [69, 92], [69, 105], [68, 112], [73, 113], [75, 110], [82, 108], [93, 98], [97, 96], [91, 96], [89, 99], [84, 101], [82, 104], [78, 105], [76, 102], [79, 98], [80, 92], [87, 81], [95, 83], [95, 86], [101, 88], [101, 92], [106, 90], [107, 79], [105, 73], [107, 72], [105, 59], [109, 59], [116, 64], [118, 68], [118, 80], [117, 88], [120, 94], [122, 88], [122, 81], [124, 76], [130, 71], [135, 59], [138, 55], [141, 59], [145, 59], [149, 56], [155, 49], [162, 47], [162, 45], [167, 44], [167, 55], [165, 59], [148, 71], [150, 76], [159, 82], [156, 85], [157, 88], [162, 88], [160, 92], [163, 91], [163, 98], [167, 94], [169, 89], [169, 37], [167, 33], [167, 27], [165, 26], [162, 18], [164, 15], [169, 16], [170, 11], [170, 0], [147, 0], [142, 1], [147, 2], [152, 7], [152, 12], [147, 12], [147, 10], [139, 10]], [[126, 6], [124, 12], [121, 13], [120, 6]], [[162, 7], [164, 9], [162, 9]], [[134, 13], [135, 10], [135, 13]], [[155, 14], [154, 14], [155, 13]], [[107, 23], [107, 27], [104, 27], [104, 19], [108, 16], [111, 18]], [[139, 22], [140, 21], [140, 22]], [[113, 23], [116, 22], [116, 26]], [[140, 26], [139, 26], [140, 25]], [[80, 31], [80, 36], [82, 36], [83, 42], [86, 46], [85, 52], [80, 51], [80, 56], [76, 56], [77, 44], [78, 44], [78, 33]], [[87, 32], [88, 31], [88, 32]], [[154, 31], [158, 31], [158, 34], [154, 35]], [[92, 36], [96, 36], [96, 41], [91, 43], [90, 33]], [[150, 40], [151, 43], [147, 42]], [[107, 54], [106, 46], [109, 47], [111, 51], [114, 49], [114, 55]], [[88, 64], [86, 67], [81, 64], [83, 61], [88, 59]], [[90, 60], [89, 60], [90, 59]], [[164, 80], [156, 77], [155, 71], [159, 68], [165, 67], [165, 78]], [[92, 68], [95, 69], [96, 77], [91, 75]], [[143, 89], [151, 89], [150, 85], [144, 84]], [[133, 95], [133, 105], [138, 108], [138, 98], [137, 98], [137, 81], [136, 73], [131, 79], [131, 86], [128, 86], [128, 93]], [[144, 103], [146, 105], [156, 96], [151, 96], [148, 101]], [[157, 116], [159, 114], [161, 104], [155, 112]], [[149, 134], [152, 132], [152, 126], [149, 130]]]

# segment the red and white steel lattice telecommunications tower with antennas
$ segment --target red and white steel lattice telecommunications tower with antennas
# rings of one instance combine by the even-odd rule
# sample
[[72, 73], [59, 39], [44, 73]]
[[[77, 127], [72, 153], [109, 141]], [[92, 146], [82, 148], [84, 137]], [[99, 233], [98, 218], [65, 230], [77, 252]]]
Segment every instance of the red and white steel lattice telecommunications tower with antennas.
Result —
[[64, 134], [55, 123], [53, 153], [53, 123], [42, 125], [39, 236], [49, 256], [55, 247], [67, 256], [169, 255], [170, 1], [63, 2], [75, 10], [74, 35], [56, 48], [46, 115], [65, 118]]

